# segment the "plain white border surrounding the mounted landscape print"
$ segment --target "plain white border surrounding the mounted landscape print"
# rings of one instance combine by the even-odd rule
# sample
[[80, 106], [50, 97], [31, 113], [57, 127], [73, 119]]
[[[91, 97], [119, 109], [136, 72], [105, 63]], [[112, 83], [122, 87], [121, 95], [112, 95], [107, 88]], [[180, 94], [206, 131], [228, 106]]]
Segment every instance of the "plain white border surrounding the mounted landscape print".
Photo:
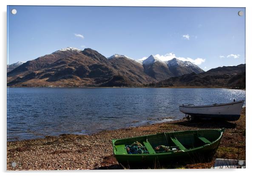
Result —
[[[255, 128], [255, 117], [253, 117], [253, 100], [256, 100], [254, 93], [254, 80], [255, 80], [255, 17], [256, 17], [256, 6], [253, 4], [253, 0], [1, 0], [1, 153], [0, 153], [0, 166], [1, 171], [4, 175], [8, 173], [11, 175], [46, 175], [54, 173], [56, 175], [70, 176], [70, 174], [85, 175], [85, 174], [99, 174], [104, 173], [105, 175], [112, 174], [181, 174], [181, 175], [205, 175], [209, 176], [216, 174], [232, 174], [241, 175], [247, 174], [253, 171], [255, 159], [255, 142], [253, 134], [255, 133], [253, 129]], [[7, 64], [7, 52], [6, 52], [6, 9], [7, 5], [42, 5], [42, 6], [183, 6], [183, 7], [245, 7], [246, 8], [246, 169], [237, 170], [81, 170], [81, 171], [19, 171], [12, 172], [6, 171], [6, 64]], [[253, 32], [254, 31], [254, 32]], [[135, 173], [136, 172], [136, 173]], [[139, 172], [139, 173], [137, 173]], [[160, 172], [160, 173], [159, 173]]]

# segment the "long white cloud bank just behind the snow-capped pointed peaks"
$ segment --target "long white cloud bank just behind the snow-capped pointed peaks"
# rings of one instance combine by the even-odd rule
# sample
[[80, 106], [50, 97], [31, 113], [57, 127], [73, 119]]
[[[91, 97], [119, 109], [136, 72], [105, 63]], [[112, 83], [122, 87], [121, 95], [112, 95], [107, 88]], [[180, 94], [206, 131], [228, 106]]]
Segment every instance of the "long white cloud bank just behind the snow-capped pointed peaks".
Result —
[[[196, 58], [196, 59], [191, 59], [189, 57], [185, 58], [185, 57], [177, 57], [174, 53], [167, 53], [165, 55], [159, 55], [159, 54], [156, 54], [154, 55], [156, 58], [160, 59], [161, 61], [169, 61], [171, 59], [179, 59], [181, 61], [190, 61], [192, 62], [193, 64], [196, 64], [196, 65], [200, 65], [202, 64], [203, 62], [205, 62], [205, 59], [202, 59], [202, 58]], [[140, 61], [143, 61], [145, 59], [147, 59], [148, 57], [143, 57], [142, 59], [139, 59]]]

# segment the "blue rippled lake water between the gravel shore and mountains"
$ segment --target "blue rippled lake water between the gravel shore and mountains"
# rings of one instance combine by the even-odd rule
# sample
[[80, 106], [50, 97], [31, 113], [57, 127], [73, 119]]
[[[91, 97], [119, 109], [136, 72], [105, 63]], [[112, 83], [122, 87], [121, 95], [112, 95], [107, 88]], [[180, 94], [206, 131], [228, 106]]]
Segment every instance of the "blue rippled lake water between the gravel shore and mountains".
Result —
[[[245, 100], [245, 90], [202, 88], [8, 88], [7, 138], [22, 140], [181, 119], [179, 104]], [[172, 118], [170, 118], [172, 117]]]

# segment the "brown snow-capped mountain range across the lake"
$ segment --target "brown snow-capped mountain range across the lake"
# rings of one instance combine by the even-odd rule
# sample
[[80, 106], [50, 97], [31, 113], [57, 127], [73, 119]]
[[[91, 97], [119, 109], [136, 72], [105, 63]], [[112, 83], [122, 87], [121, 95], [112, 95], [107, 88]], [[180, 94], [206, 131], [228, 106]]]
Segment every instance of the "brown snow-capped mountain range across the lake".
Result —
[[140, 64], [125, 55], [106, 58], [91, 48], [66, 47], [11, 70], [7, 73], [7, 86], [142, 87], [170, 77], [205, 73], [189, 61], [174, 58], [164, 62], [153, 55], [147, 59]]

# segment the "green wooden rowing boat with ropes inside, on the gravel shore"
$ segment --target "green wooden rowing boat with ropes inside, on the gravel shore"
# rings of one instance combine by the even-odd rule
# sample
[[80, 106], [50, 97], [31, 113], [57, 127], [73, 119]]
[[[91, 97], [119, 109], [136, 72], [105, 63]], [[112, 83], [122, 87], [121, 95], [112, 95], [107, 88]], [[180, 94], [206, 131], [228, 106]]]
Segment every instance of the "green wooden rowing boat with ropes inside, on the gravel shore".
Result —
[[[122, 165], [179, 162], [215, 154], [224, 129], [158, 133], [112, 140], [114, 156]], [[194, 161], [194, 160], [193, 160]]]

